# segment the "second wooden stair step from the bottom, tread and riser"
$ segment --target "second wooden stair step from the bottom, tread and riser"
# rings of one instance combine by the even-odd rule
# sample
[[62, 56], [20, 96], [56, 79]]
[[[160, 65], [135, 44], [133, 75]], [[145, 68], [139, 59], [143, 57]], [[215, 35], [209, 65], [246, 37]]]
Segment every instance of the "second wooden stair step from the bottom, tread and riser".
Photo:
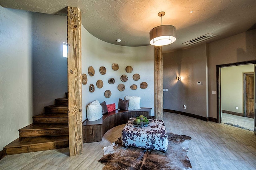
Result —
[[68, 124], [32, 123], [19, 130], [19, 137], [68, 135]]

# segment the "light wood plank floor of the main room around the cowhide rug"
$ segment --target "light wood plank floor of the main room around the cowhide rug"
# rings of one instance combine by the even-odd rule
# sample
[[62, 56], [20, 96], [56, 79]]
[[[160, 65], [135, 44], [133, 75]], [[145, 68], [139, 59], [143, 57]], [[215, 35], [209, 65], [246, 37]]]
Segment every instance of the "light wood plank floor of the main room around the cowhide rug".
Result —
[[[255, 170], [256, 136], [252, 131], [164, 112], [168, 132], [192, 137], [188, 157], [195, 170]], [[121, 135], [110, 129], [101, 142], [83, 144], [83, 154], [69, 157], [68, 148], [5, 156], [0, 170], [100, 170], [103, 147]]]

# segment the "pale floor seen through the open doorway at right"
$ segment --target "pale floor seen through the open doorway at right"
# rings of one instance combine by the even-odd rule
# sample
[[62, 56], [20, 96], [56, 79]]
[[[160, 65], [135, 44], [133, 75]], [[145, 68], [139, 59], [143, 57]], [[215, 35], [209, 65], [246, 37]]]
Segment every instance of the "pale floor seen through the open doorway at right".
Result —
[[247, 129], [254, 130], [254, 119], [250, 117], [242, 117], [237, 115], [231, 115], [228, 113], [222, 113], [222, 122], [221, 123], [232, 123], [234, 125], [240, 125]]

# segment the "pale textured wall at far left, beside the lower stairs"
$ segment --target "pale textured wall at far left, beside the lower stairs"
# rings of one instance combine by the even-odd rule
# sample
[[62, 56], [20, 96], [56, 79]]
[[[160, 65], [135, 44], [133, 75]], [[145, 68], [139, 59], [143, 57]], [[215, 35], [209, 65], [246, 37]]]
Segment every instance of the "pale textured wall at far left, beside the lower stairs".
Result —
[[32, 123], [31, 17], [0, 6], [0, 150]]

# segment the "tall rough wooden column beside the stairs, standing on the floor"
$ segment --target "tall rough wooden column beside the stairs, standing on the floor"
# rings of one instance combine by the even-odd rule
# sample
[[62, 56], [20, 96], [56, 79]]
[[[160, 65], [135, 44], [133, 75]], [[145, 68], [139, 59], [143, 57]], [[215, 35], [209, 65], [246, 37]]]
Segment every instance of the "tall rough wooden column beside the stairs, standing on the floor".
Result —
[[81, 13], [68, 6], [68, 135], [70, 156], [82, 154]]

